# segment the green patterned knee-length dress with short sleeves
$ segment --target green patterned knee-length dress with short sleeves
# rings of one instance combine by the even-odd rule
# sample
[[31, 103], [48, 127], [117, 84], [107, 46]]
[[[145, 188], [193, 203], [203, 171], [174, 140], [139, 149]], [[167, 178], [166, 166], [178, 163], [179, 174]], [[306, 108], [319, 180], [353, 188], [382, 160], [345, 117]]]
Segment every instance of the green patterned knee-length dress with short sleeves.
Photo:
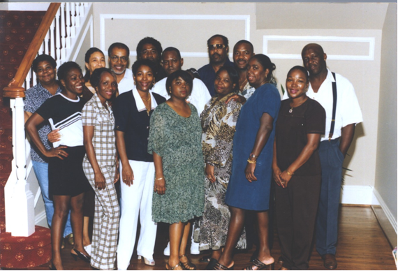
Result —
[[202, 128], [194, 105], [182, 117], [170, 105], [158, 105], [151, 116], [148, 152], [162, 157], [165, 194], [154, 193], [152, 219], [174, 224], [201, 217], [205, 202]]

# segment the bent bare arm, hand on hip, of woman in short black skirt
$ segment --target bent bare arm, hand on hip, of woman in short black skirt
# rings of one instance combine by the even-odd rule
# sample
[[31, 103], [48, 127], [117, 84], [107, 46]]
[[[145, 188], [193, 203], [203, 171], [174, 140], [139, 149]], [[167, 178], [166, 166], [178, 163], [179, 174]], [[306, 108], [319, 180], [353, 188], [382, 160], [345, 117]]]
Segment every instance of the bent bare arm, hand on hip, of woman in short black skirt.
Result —
[[31, 140], [34, 142], [34, 145], [38, 148], [38, 150], [46, 157], [58, 157], [59, 159], [64, 159], [64, 157], [68, 157], [68, 153], [63, 149], [67, 148], [66, 146], [59, 146], [52, 149], [46, 149], [41, 142], [40, 137], [38, 136], [37, 126], [44, 122], [43, 117], [34, 113], [29, 117], [27, 123], [25, 124], [25, 130], [29, 133]]

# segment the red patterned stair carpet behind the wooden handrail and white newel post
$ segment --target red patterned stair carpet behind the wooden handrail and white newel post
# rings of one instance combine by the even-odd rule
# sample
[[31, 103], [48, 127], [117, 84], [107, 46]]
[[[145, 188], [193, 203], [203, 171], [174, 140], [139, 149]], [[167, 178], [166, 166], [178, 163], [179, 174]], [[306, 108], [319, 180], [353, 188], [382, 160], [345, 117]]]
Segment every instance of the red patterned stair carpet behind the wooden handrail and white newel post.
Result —
[[45, 11], [0, 10], [0, 233], [4, 225], [4, 186], [13, 159], [13, 126], [9, 99], [3, 88], [14, 77]]

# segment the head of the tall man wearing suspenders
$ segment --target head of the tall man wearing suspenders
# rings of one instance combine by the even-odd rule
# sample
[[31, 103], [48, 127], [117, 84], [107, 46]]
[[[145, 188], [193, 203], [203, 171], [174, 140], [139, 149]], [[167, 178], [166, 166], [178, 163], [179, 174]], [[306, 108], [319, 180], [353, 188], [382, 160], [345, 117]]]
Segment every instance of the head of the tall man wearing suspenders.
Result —
[[302, 51], [302, 62], [309, 75], [314, 76], [326, 71], [326, 54], [319, 45], [307, 45]]

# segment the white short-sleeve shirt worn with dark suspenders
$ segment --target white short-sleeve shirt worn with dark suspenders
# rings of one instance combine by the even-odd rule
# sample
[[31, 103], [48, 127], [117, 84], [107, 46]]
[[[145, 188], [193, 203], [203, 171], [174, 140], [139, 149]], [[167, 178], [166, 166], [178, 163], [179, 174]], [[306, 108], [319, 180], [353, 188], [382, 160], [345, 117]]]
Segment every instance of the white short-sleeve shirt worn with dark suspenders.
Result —
[[[358, 103], [358, 98], [355, 95], [355, 90], [353, 84], [348, 81], [342, 75], [336, 74], [336, 87], [337, 87], [337, 108], [336, 108], [336, 122], [334, 124], [334, 133], [332, 139], [339, 138], [341, 136], [341, 128], [347, 126], [348, 124], [358, 124], [363, 122], [362, 112], [360, 109], [360, 104]], [[320, 139], [329, 140], [330, 124], [332, 122], [333, 113], [333, 88], [332, 82], [334, 78], [332, 72], [327, 69], [327, 76], [322, 85], [320, 85], [318, 92], [314, 92], [309, 85], [307, 91], [307, 96], [309, 98], [318, 101], [320, 105], [326, 111], [326, 129], [325, 135]], [[285, 91], [283, 94], [283, 100], [288, 98], [288, 92]]]

